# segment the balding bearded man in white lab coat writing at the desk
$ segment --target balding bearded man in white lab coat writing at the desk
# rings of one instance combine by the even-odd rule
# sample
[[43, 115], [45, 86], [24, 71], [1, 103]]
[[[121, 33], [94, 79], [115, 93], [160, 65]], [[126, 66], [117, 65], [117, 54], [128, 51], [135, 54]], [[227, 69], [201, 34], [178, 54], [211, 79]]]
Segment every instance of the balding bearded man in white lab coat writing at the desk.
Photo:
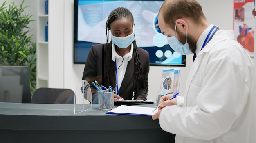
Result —
[[195, 60], [184, 97], [163, 96], [152, 119], [175, 143], [256, 143], [256, 72], [234, 32], [209, 24], [195, 0], [165, 0], [158, 23], [171, 48]]

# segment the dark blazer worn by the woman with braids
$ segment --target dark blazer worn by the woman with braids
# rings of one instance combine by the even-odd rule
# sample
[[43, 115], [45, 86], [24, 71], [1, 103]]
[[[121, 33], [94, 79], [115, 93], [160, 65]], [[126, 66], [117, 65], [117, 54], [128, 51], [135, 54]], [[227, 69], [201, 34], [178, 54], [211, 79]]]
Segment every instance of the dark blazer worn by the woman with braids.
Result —
[[[110, 45], [109, 50], [111, 51], [112, 42], [110, 42], [109, 45]], [[106, 51], [107, 51], [106, 44], [93, 45], [92, 48], [90, 49], [90, 52], [87, 57], [87, 61], [85, 63], [82, 79], [87, 80], [90, 83], [90, 86], [92, 89], [92, 100], [95, 95], [98, 95], [97, 89], [95, 89], [95, 87], [92, 85], [92, 81], [96, 80], [97, 82], [99, 82], [99, 85], [103, 85], [107, 88], [109, 87], [109, 85], [106, 85], [107, 78], [105, 76], [106, 68], [107, 66], [109, 66], [108, 65], [109, 62], [107, 62], [108, 60], [106, 60], [108, 59], [109, 55], [106, 53]], [[120, 88], [120, 93], [119, 93], [119, 95], [126, 100], [132, 99], [133, 97], [134, 99], [137, 99], [137, 100], [146, 100], [147, 93], [148, 93], [149, 54], [146, 50], [141, 48], [138, 48], [138, 51], [139, 51], [142, 72], [144, 74], [144, 81], [146, 84], [146, 88], [141, 87], [137, 95], [133, 95], [134, 82], [136, 81], [134, 77], [134, 57], [132, 56], [132, 59], [128, 61], [126, 73], [124, 75], [124, 79], [123, 79], [123, 82]], [[103, 61], [103, 57], [104, 57], [104, 61]], [[104, 63], [103, 66], [102, 66], [102, 61]], [[115, 67], [115, 62], [113, 60], [111, 60], [111, 65], [112, 67]], [[102, 78], [103, 69], [104, 69], [104, 74], [103, 74], [104, 78]], [[110, 73], [112, 73], [110, 75], [110, 78], [111, 78], [110, 82], [112, 83], [111, 86], [114, 87], [116, 84], [115, 69], [111, 69]], [[102, 79], [104, 84], [102, 84]], [[141, 83], [141, 85], [143, 84], [144, 83]]]

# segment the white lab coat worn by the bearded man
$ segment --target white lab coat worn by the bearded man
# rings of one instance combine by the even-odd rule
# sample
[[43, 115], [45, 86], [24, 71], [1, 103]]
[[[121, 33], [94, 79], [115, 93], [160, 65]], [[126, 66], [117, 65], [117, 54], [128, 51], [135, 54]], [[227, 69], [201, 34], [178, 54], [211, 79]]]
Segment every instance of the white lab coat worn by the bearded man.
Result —
[[191, 67], [183, 107], [163, 108], [160, 126], [175, 143], [256, 143], [255, 81], [234, 32], [218, 30]]

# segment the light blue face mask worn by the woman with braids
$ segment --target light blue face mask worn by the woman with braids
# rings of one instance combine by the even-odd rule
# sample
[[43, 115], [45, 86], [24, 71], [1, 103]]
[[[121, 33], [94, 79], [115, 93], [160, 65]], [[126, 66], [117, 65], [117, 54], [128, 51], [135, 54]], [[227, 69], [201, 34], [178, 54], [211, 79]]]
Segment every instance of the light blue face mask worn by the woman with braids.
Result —
[[126, 37], [112, 36], [112, 43], [119, 48], [127, 48], [135, 40], [134, 32]]

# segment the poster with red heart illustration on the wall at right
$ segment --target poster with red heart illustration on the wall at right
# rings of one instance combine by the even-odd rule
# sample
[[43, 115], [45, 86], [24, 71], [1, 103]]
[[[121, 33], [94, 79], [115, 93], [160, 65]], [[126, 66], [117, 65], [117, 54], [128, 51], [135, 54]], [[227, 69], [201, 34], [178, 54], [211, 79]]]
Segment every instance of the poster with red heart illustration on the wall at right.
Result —
[[234, 36], [251, 58], [254, 58], [255, 16], [254, 0], [234, 0]]

